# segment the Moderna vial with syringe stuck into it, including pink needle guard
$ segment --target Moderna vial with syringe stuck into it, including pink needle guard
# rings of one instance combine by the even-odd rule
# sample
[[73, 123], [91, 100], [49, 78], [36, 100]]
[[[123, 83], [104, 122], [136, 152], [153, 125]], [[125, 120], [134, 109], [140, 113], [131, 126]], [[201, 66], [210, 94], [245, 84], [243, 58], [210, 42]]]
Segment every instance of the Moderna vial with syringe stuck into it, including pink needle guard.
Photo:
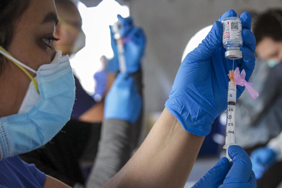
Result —
[[245, 70], [243, 69], [240, 75], [239, 68], [234, 71], [234, 60], [242, 58], [240, 47], [243, 46], [242, 38], [242, 23], [238, 17], [227, 17], [221, 21], [223, 26], [222, 42], [226, 48], [225, 58], [233, 59], [233, 68], [229, 70], [229, 83], [227, 93], [227, 114], [226, 114], [226, 138], [225, 145], [226, 157], [231, 161], [228, 155], [228, 147], [235, 145], [235, 109], [236, 109], [236, 85], [245, 86], [253, 99], [259, 94], [252, 88], [252, 83], [245, 80]]

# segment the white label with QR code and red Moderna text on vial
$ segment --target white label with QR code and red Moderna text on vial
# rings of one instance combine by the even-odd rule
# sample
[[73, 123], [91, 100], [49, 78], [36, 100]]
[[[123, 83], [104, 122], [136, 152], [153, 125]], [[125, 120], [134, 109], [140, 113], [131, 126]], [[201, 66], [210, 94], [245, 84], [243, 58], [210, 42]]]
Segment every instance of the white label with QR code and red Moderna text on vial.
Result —
[[227, 20], [222, 23], [222, 27], [223, 27], [222, 42], [229, 40], [239, 40], [243, 42], [241, 21]]

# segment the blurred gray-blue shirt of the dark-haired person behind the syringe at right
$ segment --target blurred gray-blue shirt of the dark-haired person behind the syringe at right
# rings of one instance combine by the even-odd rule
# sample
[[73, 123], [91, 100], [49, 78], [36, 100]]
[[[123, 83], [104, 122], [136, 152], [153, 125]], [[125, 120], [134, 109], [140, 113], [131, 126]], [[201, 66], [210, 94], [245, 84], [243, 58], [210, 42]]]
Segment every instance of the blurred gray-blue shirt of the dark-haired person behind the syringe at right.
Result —
[[257, 60], [249, 82], [259, 92], [252, 100], [245, 90], [236, 102], [235, 142], [242, 147], [267, 143], [282, 130], [282, 63], [269, 68]]

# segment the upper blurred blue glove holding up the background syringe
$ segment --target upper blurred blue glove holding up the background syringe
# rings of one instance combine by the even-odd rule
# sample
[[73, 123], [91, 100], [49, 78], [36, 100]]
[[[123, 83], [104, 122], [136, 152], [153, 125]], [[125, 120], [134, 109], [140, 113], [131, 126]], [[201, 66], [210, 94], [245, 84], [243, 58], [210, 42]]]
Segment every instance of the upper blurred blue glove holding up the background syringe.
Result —
[[[117, 15], [117, 18], [123, 25], [121, 29], [121, 36], [124, 41], [124, 56], [126, 64], [126, 72], [134, 73], [140, 68], [141, 58], [144, 53], [146, 46], [145, 33], [141, 28], [133, 25], [132, 18], [122, 18]], [[117, 53], [117, 42], [114, 38], [114, 33], [110, 26], [111, 33], [111, 46], [114, 52], [114, 57], [108, 63], [108, 71], [116, 72], [119, 70], [118, 53]]]

